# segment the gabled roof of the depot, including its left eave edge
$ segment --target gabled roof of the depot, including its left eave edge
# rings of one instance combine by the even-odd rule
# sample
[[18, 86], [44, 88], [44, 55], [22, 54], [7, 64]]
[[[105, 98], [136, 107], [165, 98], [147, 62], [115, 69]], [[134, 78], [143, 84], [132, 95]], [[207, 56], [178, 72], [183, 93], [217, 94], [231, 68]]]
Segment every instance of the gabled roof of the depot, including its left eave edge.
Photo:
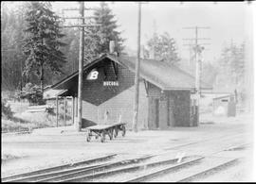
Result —
[[[132, 72], [136, 71], [136, 58], [116, 57], [104, 54], [99, 59], [95, 59], [83, 66], [83, 72], [92, 68], [103, 59], [111, 59], [122, 66], [128, 67]], [[66, 76], [60, 82], [54, 84], [52, 88], [58, 89], [58, 86], [68, 82], [78, 76], [78, 71], [72, 75]], [[140, 76], [149, 82], [155, 84], [161, 90], [192, 90], [194, 89], [194, 77], [174, 65], [154, 59], [140, 59]], [[211, 89], [211, 86], [202, 82], [202, 89]]]

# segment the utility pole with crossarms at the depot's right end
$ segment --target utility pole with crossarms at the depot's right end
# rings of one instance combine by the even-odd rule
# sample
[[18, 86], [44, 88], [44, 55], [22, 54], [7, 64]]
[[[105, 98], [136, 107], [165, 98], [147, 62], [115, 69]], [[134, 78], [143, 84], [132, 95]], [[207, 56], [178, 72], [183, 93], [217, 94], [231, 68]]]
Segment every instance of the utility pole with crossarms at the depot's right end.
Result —
[[196, 108], [196, 121], [195, 125], [198, 125], [199, 122], [199, 101], [201, 93], [201, 69], [202, 69], [202, 51], [204, 49], [203, 44], [209, 43], [198, 43], [198, 40], [210, 40], [209, 38], [198, 38], [198, 29], [210, 29], [206, 26], [194, 26], [194, 27], [184, 27], [184, 29], [194, 29], [195, 38], [194, 39], [184, 39], [184, 40], [194, 40], [194, 44], [184, 44], [193, 46], [194, 59], [195, 59], [195, 106]]

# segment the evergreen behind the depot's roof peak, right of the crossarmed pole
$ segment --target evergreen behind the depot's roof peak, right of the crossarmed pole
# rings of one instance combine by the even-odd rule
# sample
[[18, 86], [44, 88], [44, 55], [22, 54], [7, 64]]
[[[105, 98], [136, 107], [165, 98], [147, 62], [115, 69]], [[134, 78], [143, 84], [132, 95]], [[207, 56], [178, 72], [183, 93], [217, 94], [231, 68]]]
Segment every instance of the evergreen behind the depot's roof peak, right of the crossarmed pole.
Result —
[[89, 27], [85, 33], [85, 58], [87, 60], [99, 57], [102, 53], [108, 53], [109, 42], [115, 41], [115, 50], [119, 53], [123, 50], [122, 42], [124, 39], [120, 37], [117, 21], [114, 20], [115, 15], [106, 3], [101, 2], [101, 7], [94, 12], [94, 24], [101, 26]]

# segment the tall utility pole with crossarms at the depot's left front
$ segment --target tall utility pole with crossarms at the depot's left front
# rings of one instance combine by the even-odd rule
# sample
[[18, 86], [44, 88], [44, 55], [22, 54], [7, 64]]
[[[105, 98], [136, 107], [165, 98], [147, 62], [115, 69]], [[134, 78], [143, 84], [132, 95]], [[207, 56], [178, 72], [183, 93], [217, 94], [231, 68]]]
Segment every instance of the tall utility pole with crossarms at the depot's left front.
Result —
[[66, 8], [63, 10], [80, 10], [79, 17], [65, 17], [64, 19], [79, 19], [81, 25], [64, 25], [62, 27], [79, 27], [80, 28], [80, 42], [79, 42], [79, 81], [78, 81], [78, 121], [75, 121], [77, 131], [81, 131], [82, 128], [82, 68], [84, 59], [84, 27], [98, 26], [98, 25], [86, 25], [85, 19], [94, 18], [93, 16], [84, 17], [84, 10], [91, 10], [95, 8], [84, 8], [84, 2], [79, 2], [80, 8]]

